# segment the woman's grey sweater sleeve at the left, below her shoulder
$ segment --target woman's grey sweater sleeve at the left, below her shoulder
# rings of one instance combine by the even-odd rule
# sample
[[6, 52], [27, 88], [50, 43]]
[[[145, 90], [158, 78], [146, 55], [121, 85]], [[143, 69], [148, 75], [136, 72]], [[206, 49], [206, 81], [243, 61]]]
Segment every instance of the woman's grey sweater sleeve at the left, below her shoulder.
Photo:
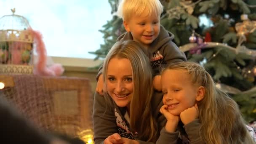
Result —
[[93, 130], [95, 144], [103, 144], [108, 136], [117, 132], [114, 106], [108, 104], [106, 99], [106, 97], [99, 95], [99, 93], [95, 93], [93, 103]]

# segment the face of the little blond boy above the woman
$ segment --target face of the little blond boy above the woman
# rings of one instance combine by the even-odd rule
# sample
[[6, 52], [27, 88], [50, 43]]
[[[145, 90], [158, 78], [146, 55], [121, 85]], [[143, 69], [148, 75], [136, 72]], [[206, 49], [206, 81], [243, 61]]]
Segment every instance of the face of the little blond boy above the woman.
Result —
[[157, 38], [160, 30], [160, 15], [152, 13], [142, 13], [141, 16], [133, 15], [128, 21], [123, 21], [125, 30], [131, 32], [133, 40], [141, 43], [145, 47]]

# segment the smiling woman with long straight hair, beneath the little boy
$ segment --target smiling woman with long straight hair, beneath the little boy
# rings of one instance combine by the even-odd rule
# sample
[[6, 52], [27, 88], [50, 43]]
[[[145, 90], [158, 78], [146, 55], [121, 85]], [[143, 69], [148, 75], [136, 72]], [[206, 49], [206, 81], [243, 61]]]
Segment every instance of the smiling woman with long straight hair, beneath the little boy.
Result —
[[163, 96], [153, 95], [149, 58], [139, 43], [115, 43], [103, 79], [107, 93], [96, 93], [93, 104], [95, 144], [155, 142], [166, 121], [159, 112]]

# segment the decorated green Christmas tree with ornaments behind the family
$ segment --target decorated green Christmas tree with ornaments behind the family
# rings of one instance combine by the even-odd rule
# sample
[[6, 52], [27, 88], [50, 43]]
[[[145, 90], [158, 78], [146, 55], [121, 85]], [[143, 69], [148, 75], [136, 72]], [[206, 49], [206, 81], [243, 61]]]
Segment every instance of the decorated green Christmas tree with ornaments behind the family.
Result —
[[[112, 19], [100, 30], [104, 44], [95, 59], [105, 58], [125, 29], [116, 16], [119, 0], [109, 0]], [[160, 24], [188, 61], [202, 64], [216, 86], [237, 101], [248, 122], [256, 119], [256, 0], [160, 0]]]

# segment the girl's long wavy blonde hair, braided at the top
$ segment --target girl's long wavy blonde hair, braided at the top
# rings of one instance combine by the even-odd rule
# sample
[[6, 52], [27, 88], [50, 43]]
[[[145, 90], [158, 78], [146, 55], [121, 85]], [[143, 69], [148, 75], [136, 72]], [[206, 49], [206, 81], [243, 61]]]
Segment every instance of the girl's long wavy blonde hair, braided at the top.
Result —
[[205, 88], [198, 108], [200, 136], [206, 144], [255, 144], [237, 103], [216, 88], [211, 75], [202, 66], [183, 61], [169, 65], [163, 72], [167, 69], [187, 70], [192, 83]]

